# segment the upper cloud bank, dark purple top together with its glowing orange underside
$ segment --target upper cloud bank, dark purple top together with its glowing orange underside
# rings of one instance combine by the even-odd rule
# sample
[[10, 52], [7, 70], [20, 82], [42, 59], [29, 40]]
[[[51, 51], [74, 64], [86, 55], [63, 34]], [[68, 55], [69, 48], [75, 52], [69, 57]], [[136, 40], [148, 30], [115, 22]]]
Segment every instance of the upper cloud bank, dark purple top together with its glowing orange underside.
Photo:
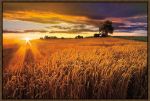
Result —
[[[66, 9], [67, 7], [67, 9]], [[4, 18], [57, 24], [97, 24], [109, 18], [147, 15], [146, 3], [4, 3]], [[23, 15], [23, 16], [20, 16]], [[115, 19], [118, 18], [118, 19]]]

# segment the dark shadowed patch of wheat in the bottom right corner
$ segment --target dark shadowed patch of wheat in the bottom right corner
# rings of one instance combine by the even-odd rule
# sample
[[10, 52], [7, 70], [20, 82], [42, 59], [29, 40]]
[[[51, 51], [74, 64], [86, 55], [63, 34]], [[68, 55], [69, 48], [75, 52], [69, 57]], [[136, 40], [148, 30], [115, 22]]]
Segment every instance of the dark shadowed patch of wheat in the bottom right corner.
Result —
[[148, 99], [148, 71], [145, 67], [143, 73], [134, 73], [130, 78], [127, 90], [127, 99]]

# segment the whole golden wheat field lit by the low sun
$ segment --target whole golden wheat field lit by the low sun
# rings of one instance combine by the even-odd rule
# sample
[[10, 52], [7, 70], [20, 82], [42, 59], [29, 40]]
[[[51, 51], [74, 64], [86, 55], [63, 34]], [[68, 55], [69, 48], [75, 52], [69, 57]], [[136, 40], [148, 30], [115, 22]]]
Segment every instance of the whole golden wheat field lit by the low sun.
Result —
[[4, 99], [146, 99], [147, 76], [147, 42], [3, 40]]

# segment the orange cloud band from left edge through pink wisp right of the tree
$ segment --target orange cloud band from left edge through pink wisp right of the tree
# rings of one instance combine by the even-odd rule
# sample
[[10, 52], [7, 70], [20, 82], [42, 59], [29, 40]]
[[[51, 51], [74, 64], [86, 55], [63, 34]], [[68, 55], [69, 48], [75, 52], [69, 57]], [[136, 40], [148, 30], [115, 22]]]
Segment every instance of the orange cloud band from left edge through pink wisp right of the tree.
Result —
[[107, 19], [112, 20], [115, 23], [124, 21], [121, 18], [107, 18], [96, 20], [90, 19], [87, 16], [64, 15], [45, 11], [9, 11], [3, 13], [3, 18], [9, 20], [23, 20], [46, 24], [59, 24], [62, 22], [68, 22], [77, 24], [99, 25], [101, 22]]

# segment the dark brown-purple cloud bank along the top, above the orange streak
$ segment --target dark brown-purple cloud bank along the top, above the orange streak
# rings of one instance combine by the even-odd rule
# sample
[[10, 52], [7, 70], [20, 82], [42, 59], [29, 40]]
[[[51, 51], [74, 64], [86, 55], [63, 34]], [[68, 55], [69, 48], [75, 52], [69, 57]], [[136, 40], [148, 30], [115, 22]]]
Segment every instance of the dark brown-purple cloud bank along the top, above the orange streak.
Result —
[[91, 19], [147, 15], [147, 3], [5, 3], [3, 11], [47, 11]]

